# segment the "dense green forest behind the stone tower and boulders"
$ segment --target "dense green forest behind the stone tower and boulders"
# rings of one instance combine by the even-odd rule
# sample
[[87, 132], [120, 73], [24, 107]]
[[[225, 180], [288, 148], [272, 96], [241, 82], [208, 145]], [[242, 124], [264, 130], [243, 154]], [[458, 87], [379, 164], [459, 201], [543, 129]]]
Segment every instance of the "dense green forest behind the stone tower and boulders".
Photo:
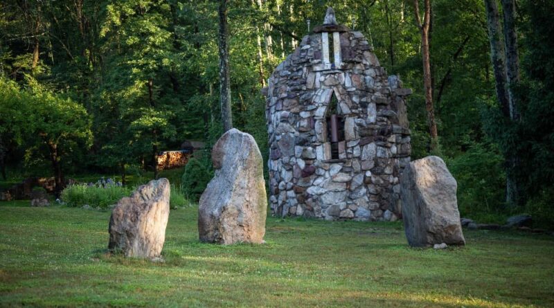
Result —
[[[428, 1], [428, 0], [427, 0]], [[485, 3], [429, 1], [429, 55], [438, 140], [425, 109], [422, 39], [412, 0], [231, 0], [233, 125], [269, 153], [260, 89], [326, 6], [366, 35], [409, 98], [412, 159], [441, 156], [458, 181], [463, 216], [494, 221], [527, 212], [554, 221], [552, 0], [515, 1], [519, 118], [502, 115]], [[420, 1], [425, 7], [425, 1]], [[136, 174], [185, 140], [208, 148], [222, 134], [218, 1], [7, 0], [0, 2], [0, 167], [3, 179]], [[502, 10], [502, 6], [499, 6]], [[502, 12], [499, 13], [502, 16]], [[503, 22], [500, 19], [500, 22]], [[494, 37], [493, 37], [494, 38]], [[202, 191], [209, 155], [186, 167]], [[517, 158], [517, 166], [509, 163]], [[506, 174], [517, 199], [506, 201]]]

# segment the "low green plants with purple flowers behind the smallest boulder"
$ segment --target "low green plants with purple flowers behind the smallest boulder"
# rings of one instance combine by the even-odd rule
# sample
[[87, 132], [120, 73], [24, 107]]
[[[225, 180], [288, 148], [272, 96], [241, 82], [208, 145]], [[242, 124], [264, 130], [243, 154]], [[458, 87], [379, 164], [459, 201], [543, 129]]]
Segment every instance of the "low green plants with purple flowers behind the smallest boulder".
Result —
[[118, 185], [69, 185], [62, 192], [62, 201], [71, 207], [88, 204], [91, 208], [108, 208], [123, 197], [129, 197], [131, 190]]

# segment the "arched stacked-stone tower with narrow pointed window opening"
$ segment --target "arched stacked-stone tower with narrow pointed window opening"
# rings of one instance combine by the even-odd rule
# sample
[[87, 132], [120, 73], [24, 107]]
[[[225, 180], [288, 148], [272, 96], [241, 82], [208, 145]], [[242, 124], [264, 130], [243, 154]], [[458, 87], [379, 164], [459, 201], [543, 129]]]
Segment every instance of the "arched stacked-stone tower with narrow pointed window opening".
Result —
[[387, 77], [364, 35], [337, 25], [328, 9], [263, 92], [274, 215], [400, 218], [411, 89]]

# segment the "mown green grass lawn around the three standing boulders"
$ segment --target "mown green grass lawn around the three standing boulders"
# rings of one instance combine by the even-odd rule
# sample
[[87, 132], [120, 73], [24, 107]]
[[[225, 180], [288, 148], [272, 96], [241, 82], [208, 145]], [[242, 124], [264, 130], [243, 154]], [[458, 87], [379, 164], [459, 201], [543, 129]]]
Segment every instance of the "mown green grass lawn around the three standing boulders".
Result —
[[0, 203], [0, 306], [554, 307], [554, 237], [465, 230], [406, 245], [400, 223], [267, 221], [267, 244], [197, 239], [172, 210], [166, 262], [105, 254], [109, 211]]

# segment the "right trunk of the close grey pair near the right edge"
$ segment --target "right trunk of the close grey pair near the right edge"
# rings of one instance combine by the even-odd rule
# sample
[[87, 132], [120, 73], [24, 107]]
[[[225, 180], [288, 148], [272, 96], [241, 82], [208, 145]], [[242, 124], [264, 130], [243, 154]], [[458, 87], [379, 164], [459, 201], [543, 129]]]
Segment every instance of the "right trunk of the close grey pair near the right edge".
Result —
[[515, 87], [519, 83], [519, 55], [515, 28], [515, 0], [502, 0], [504, 13], [504, 43], [506, 44], [506, 75], [508, 76], [508, 103], [510, 119], [519, 120]]

